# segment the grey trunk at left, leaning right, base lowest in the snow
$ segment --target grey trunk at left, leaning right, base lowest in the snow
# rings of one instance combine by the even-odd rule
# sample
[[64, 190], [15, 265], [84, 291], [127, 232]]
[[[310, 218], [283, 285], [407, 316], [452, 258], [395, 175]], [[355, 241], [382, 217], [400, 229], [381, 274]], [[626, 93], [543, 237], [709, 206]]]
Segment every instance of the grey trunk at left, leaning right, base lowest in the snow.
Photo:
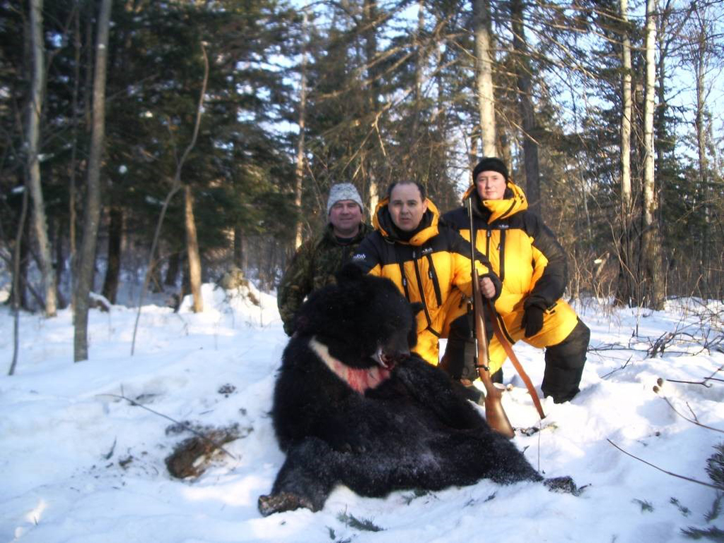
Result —
[[83, 241], [80, 246], [75, 291], [73, 357], [76, 362], [88, 360], [88, 295], [93, 286], [98, 222], [101, 218], [101, 158], [106, 130], [106, 64], [110, 18], [111, 0], [101, 0], [96, 41], [96, 68], [93, 75], [93, 125], [88, 158], [88, 190], [85, 194]]

